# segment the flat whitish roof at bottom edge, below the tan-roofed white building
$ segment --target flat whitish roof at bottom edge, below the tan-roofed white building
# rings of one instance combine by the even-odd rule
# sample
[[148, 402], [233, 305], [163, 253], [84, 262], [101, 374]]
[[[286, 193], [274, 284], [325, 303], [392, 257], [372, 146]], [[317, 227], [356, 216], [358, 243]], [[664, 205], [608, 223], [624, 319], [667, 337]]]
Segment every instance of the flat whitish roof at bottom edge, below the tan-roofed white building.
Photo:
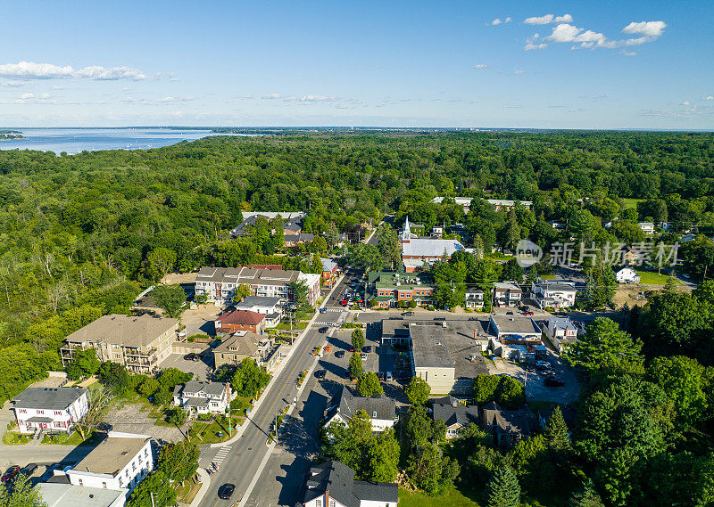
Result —
[[46, 507], [124, 507], [128, 491], [57, 482], [40, 482], [36, 487]]

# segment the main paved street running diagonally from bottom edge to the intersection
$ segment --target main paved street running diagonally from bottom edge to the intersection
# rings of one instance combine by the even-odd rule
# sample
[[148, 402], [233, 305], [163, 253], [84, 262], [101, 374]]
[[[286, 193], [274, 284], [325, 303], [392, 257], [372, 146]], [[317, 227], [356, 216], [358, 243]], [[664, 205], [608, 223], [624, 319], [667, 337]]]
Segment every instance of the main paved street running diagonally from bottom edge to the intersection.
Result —
[[[328, 311], [318, 315], [316, 321], [334, 323], [340, 315], [339, 311]], [[261, 405], [254, 413], [250, 414], [243, 436], [235, 444], [229, 446], [228, 453], [223, 451], [220, 474], [212, 476], [211, 487], [203, 497], [203, 501], [200, 503], [201, 507], [232, 505], [245, 495], [251, 479], [268, 452], [266, 444], [276, 414], [292, 403], [293, 397], [297, 394], [298, 375], [311, 368], [311, 365], [316, 361], [316, 358], [311, 354], [312, 350], [325, 343], [325, 334], [318, 331], [320, 327], [322, 327], [320, 324], [313, 326], [296, 344], [295, 351], [282, 372], [278, 374], [270, 389], [263, 393], [264, 399]], [[310, 391], [306, 388], [303, 392], [309, 393]], [[235, 484], [236, 492], [230, 500], [220, 500], [217, 495], [218, 489], [226, 483]], [[261, 487], [262, 485], [259, 483], [256, 490], [260, 491]]]

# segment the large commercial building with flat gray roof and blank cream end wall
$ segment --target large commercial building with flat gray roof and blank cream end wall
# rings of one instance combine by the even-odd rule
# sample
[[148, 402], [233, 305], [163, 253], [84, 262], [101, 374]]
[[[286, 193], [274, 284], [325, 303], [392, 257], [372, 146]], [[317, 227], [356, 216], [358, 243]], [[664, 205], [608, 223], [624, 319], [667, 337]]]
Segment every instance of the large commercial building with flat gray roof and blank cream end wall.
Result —
[[410, 323], [409, 334], [412, 375], [425, 380], [432, 393], [450, 393], [456, 369], [444, 327], [435, 323]]

